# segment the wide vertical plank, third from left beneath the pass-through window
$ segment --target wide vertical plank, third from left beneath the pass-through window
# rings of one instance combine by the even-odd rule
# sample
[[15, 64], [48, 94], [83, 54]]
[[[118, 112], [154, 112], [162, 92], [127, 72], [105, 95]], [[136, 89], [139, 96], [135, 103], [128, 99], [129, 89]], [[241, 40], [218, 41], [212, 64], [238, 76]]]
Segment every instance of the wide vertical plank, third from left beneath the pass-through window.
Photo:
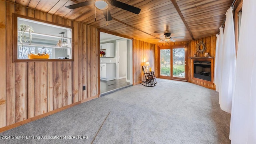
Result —
[[47, 112], [47, 62], [35, 62], [35, 116]]

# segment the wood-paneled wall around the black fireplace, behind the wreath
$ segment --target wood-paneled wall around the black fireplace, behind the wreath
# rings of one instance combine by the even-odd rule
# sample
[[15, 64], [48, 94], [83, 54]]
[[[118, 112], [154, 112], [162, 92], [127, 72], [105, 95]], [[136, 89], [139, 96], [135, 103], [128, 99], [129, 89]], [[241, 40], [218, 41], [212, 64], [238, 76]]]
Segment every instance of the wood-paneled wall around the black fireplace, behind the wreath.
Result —
[[[194, 54], [196, 54], [197, 57], [204, 57], [204, 53], [205, 52], [208, 52], [209, 56], [212, 56], [214, 57], [214, 60], [215, 61], [215, 50], [216, 50], [216, 35], [212, 35], [212, 36], [208, 36], [206, 38], [201, 38], [201, 39], [198, 39], [198, 40], [193, 40], [193, 41], [190, 41], [188, 43], [188, 57], [194, 57]], [[205, 46], [206, 46], [206, 50], [204, 51], [203, 54], [199, 54], [196, 52], [196, 44], [200, 41], [203, 41]], [[215, 89], [215, 84], [210, 84], [210, 83], [207, 83], [207, 82], [203, 82], [203, 81], [200, 81], [200, 80], [194, 80], [192, 78], [192, 70], [191, 70], [191, 67], [192, 67], [192, 61], [190, 58], [188, 58], [188, 82], [192, 82], [194, 84], [198, 84], [198, 85], [201, 85], [201, 86], [204, 86], [204, 87], [207, 87], [207, 88], [211, 88], [211, 89]], [[213, 66], [215, 66], [214, 62], [213, 62]], [[214, 74], [214, 72], [212, 72], [212, 74]]]

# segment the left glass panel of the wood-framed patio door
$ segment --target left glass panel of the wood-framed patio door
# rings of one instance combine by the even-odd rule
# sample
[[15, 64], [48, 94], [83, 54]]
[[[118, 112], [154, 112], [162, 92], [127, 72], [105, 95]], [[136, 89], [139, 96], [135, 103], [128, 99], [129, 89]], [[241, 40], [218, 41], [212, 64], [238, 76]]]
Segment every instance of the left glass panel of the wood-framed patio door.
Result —
[[171, 49], [160, 50], [160, 76], [171, 76]]

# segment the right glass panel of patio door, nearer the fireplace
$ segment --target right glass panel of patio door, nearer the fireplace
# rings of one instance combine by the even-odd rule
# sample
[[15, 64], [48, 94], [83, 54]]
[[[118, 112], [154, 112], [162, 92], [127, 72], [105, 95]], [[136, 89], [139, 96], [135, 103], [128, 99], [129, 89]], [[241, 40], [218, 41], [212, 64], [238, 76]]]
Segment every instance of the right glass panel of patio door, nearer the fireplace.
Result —
[[185, 48], [172, 49], [172, 77], [185, 78]]

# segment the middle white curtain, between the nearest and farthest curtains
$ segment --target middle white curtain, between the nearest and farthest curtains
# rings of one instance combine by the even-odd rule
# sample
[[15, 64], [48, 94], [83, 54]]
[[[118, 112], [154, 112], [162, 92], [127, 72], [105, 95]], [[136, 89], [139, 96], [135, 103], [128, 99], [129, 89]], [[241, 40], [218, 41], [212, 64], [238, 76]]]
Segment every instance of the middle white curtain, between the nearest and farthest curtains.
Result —
[[221, 60], [219, 61], [221, 64], [219, 75], [219, 103], [220, 108], [229, 113], [231, 113], [233, 82], [236, 67], [235, 32], [232, 11], [233, 9], [230, 7], [226, 12], [222, 50], [219, 50], [219, 53], [222, 54]]

